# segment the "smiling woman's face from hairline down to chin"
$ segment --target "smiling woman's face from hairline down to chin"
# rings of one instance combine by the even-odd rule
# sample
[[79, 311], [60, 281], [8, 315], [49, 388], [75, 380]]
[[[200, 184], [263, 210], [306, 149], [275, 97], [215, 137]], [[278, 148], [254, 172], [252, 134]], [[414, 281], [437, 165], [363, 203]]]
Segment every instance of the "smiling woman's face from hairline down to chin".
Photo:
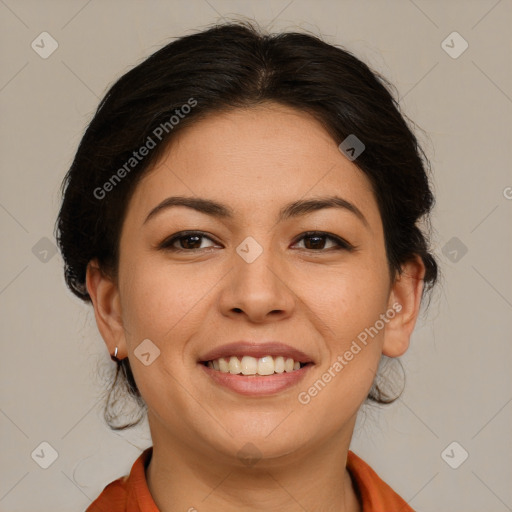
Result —
[[[171, 196], [220, 208], [150, 215]], [[328, 197], [345, 207], [298, 206]], [[183, 231], [195, 233], [170, 240]], [[102, 334], [129, 357], [154, 442], [203, 457], [252, 443], [274, 458], [350, 437], [382, 353], [407, 348], [368, 179], [313, 118], [277, 104], [175, 136], [129, 203], [116, 286], [120, 327]], [[234, 360], [227, 373], [205, 366], [240, 341], [219, 352], [224, 370], [244, 354], [248, 372], [268, 355], [262, 373], [282, 370], [278, 356], [308, 364], [267, 376], [235, 375]], [[257, 347], [267, 343], [289, 348]]]

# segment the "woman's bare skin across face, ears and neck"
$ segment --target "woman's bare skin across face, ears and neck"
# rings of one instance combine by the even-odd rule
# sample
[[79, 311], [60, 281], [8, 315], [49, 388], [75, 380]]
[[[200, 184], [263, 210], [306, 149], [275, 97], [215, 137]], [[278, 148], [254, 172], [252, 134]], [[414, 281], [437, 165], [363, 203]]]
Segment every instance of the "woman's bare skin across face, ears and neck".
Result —
[[[368, 225], [337, 208], [277, 222], [285, 204], [333, 193]], [[171, 195], [216, 200], [234, 219], [179, 206], [144, 224]], [[183, 230], [205, 238], [174, 244], [189, 252], [157, 248]], [[315, 246], [300, 238], [305, 231], [332, 233], [357, 249], [333, 250], [329, 238]], [[248, 236], [263, 249], [250, 264], [236, 252]], [[417, 258], [403, 270], [391, 281], [370, 182], [309, 115], [268, 103], [178, 132], [131, 198], [117, 280], [96, 261], [87, 271], [102, 337], [111, 354], [117, 346], [118, 357], [129, 357], [148, 404], [146, 476], [159, 509], [360, 511], [345, 468], [356, 414], [382, 354], [407, 350], [420, 308], [424, 265]], [[400, 313], [310, 403], [299, 403], [298, 393], [395, 303]], [[149, 366], [134, 355], [147, 338], [161, 351]], [[288, 343], [315, 366], [273, 396], [238, 395], [213, 384], [197, 361], [240, 339]], [[249, 467], [237, 455], [246, 443], [261, 456]]]

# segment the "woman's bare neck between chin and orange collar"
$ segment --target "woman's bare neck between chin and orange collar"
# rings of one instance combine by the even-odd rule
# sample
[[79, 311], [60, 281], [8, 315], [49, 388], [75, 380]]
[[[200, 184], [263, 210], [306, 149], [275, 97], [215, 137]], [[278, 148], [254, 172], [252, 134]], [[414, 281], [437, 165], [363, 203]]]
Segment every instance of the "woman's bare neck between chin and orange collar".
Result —
[[329, 443], [247, 465], [238, 459], [208, 457], [197, 448], [194, 452], [152, 429], [148, 487], [160, 512], [361, 512], [346, 469], [354, 421], [350, 432]]

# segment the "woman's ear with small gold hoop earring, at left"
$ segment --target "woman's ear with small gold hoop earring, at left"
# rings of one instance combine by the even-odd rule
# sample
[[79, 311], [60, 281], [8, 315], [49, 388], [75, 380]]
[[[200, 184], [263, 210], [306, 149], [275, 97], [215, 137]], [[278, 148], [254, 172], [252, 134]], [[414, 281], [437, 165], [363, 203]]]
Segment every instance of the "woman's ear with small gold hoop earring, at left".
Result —
[[117, 284], [102, 272], [96, 259], [87, 265], [85, 281], [94, 306], [96, 324], [108, 351], [113, 355], [117, 347], [117, 357], [124, 359], [128, 351]]

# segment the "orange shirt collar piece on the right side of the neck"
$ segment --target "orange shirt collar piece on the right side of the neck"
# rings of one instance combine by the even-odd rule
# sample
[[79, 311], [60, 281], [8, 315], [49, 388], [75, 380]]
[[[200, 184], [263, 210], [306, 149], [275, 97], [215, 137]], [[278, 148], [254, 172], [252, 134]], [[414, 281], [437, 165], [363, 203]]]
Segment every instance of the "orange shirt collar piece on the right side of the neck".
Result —
[[362, 502], [363, 512], [414, 512], [363, 459], [350, 450], [347, 455], [347, 470]]

